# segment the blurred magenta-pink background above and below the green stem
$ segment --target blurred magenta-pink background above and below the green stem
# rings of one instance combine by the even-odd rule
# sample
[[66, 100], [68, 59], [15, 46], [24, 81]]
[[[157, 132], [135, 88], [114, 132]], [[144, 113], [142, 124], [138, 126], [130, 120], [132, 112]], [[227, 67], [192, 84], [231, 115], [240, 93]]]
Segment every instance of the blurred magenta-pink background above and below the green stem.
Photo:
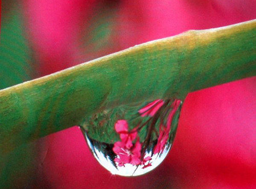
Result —
[[[100, 1], [102, 2], [102, 1]], [[105, 1], [111, 3], [111, 1]], [[117, 1], [116, 1], [117, 2]], [[41, 75], [90, 60], [78, 56], [81, 26], [99, 1], [27, 0], [27, 27]], [[253, 0], [119, 1], [116, 48], [256, 18]], [[94, 57], [96, 58], [96, 57]], [[155, 171], [136, 178], [111, 175], [73, 127], [41, 139], [37, 186], [52, 188], [256, 187], [256, 77], [190, 93], [174, 146]]]

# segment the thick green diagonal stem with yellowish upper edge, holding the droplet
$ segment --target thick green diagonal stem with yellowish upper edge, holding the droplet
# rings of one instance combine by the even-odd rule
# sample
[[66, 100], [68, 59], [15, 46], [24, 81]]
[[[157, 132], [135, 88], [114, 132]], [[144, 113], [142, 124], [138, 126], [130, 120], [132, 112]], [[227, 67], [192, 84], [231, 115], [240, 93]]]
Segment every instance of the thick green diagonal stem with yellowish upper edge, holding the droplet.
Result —
[[256, 20], [188, 31], [0, 90], [0, 155], [121, 104], [256, 74]]

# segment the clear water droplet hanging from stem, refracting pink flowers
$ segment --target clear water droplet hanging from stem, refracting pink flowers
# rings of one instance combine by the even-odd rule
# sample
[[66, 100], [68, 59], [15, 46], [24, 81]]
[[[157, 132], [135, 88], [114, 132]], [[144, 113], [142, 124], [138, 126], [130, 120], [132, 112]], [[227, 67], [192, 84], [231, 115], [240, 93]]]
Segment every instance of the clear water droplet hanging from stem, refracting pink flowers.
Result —
[[98, 162], [112, 174], [138, 176], [155, 169], [172, 146], [180, 100], [155, 100], [104, 110], [81, 130]]

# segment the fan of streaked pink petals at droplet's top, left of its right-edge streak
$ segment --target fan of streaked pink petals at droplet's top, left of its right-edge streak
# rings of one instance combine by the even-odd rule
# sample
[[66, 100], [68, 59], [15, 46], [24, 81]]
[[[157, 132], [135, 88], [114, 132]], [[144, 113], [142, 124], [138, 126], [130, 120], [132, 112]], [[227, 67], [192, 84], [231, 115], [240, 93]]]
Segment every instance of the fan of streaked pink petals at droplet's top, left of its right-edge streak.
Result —
[[145, 107], [141, 108], [139, 110], [139, 113], [141, 114], [142, 117], [144, 116], [154, 116], [155, 113], [161, 108], [163, 105], [164, 101], [161, 99], [155, 100], [149, 104], [147, 104]]

